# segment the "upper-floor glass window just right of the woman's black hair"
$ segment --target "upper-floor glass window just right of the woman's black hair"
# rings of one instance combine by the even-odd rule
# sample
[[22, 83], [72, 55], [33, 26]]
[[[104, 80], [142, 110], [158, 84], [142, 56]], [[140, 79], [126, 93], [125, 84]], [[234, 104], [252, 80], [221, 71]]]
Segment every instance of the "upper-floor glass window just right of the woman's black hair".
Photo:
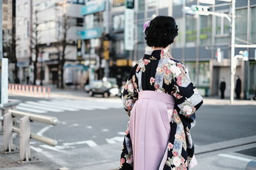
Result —
[[196, 44], [196, 19], [193, 16], [186, 15], [186, 46], [195, 46]]

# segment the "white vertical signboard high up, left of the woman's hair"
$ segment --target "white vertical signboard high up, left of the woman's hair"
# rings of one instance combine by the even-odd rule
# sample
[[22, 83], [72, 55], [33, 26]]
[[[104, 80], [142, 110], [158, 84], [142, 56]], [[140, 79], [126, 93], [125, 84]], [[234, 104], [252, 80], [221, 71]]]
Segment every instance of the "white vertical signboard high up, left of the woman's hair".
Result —
[[124, 24], [124, 49], [133, 50], [134, 48], [134, 10], [125, 9], [125, 24]]

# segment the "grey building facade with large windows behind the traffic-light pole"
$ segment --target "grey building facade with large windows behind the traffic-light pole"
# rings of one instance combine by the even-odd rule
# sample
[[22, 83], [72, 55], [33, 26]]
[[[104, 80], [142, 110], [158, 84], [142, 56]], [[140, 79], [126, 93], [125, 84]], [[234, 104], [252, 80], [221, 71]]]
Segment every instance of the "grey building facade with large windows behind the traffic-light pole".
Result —
[[[230, 96], [230, 27], [228, 20], [215, 16], [186, 15], [184, 6], [208, 5], [210, 11], [228, 13], [230, 3], [216, 1], [216, 4], [202, 4], [197, 0], [175, 0], [166, 5], [159, 0], [138, 0], [136, 38], [138, 39], [135, 59], [139, 59], [145, 50], [143, 24], [153, 15], [170, 15], [179, 27], [179, 36], [171, 45], [171, 53], [188, 67], [190, 78], [204, 96], [218, 96], [221, 78], [225, 78], [227, 88], [225, 96]], [[161, 3], [164, 3], [161, 7]], [[166, 2], [167, 3], [167, 2]], [[157, 7], [157, 4], [159, 7]], [[236, 43], [256, 44], [255, 41], [256, 1], [237, 1], [236, 3]], [[221, 62], [216, 59], [220, 48]], [[256, 90], [255, 48], [236, 48], [248, 51], [248, 60], [237, 60], [236, 75], [242, 81], [242, 94], [250, 98]], [[234, 82], [236, 83], [236, 82]]]

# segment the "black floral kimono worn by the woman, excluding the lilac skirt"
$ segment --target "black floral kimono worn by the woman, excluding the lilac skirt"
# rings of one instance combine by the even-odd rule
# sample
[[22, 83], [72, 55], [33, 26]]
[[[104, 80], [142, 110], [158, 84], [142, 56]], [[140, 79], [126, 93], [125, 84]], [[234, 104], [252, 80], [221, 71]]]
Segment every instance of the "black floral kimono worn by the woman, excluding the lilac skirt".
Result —
[[[146, 52], [143, 59], [133, 67], [122, 94], [124, 108], [129, 117], [134, 104], [138, 101], [139, 92], [144, 90], [168, 94], [175, 100], [170, 121], [170, 136], [166, 145], [166, 159], [162, 160], [164, 166], [161, 169], [188, 169], [194, 156], [194, 145], [189, 129], [195, 126], [195, 111], [203, 103], [202, 96], [189, 79], [188, 69], [173, 59], [169, 52]], [[129, 123], [125, 131], [119, 169], [133, 169]]]

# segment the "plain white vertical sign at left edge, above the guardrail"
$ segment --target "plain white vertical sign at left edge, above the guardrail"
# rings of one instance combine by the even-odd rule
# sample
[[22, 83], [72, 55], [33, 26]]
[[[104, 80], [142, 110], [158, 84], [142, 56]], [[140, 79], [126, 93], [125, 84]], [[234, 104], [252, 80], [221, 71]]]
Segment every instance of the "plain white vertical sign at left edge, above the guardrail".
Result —
[[1, 104], [8, 103], [8, 59], [0, 60], [0, 85], [1, 85]]

